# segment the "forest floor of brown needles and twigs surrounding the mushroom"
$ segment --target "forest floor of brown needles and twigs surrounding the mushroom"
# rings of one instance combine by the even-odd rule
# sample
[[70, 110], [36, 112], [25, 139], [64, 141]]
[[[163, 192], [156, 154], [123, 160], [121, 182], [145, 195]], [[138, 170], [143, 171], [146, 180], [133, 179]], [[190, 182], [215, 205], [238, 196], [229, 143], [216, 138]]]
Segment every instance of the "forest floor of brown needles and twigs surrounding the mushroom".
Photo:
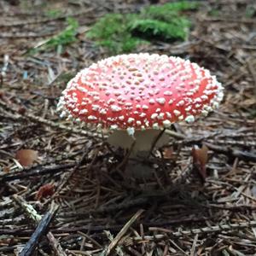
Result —
[[[217, 111], [175, 125], [161, 154], [144, 160], [151, 175], [125, 174], [122, 152], [56, 113], [67, 81], [108, 56], [84, 32], [146, 2], [0, 2], [1, 255], [25, 245], [20, 255], [256, 254], [254, 1], [202, 1], [186, 42], [136, 50], [189, 58], [224, 85]], [[79, 21], [76, 41], [41, 49], [68, 16]]]

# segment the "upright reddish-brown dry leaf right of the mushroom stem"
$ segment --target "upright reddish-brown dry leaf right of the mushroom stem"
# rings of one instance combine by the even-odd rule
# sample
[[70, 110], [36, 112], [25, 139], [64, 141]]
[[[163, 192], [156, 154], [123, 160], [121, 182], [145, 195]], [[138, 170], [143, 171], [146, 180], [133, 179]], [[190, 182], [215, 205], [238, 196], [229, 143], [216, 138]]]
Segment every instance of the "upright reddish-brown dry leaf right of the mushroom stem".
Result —
[[208, 148], [206, 145], [203, 145], [199, 148], [195, 145], [192, 148], [192, 156], [193, 156], [193, 165], [196, 170], [199, 172], [203, 181], [206, 180], [207, 177], [207, 161], [208, 161]]

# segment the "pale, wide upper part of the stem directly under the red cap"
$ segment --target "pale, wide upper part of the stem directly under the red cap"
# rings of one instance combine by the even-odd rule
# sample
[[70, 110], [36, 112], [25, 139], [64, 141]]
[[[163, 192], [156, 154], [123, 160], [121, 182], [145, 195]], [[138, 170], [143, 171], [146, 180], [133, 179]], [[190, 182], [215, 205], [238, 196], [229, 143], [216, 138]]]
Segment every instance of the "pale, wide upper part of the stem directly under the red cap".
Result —
[[131, 156], [137, 155], [139, 152], [149, 152], [154, 147], [161, 147], [168, 141], [168, 135], [160, 130], [135, 131], [134, 137], [131, 137], [127, 131], [113, 131], [108, 137], [108, 143], [116, 148], [131, 148], [134, 139], [136, 143], [132, 148]]

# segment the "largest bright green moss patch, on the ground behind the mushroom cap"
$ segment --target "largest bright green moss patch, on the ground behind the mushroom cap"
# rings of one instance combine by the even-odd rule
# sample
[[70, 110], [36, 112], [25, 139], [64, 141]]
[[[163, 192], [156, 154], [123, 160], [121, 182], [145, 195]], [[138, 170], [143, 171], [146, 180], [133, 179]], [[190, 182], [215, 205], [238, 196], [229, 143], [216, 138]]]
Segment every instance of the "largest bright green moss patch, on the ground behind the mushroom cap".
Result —
[[190, 22], [182, 12], [197, 7], [198, 3], [182, 1], [152, 5], [139, 14], [108, 14], [98, 20], [86, 36], [113, 54], [130, 52], [137, 45], [154, 39], [185, 40]]

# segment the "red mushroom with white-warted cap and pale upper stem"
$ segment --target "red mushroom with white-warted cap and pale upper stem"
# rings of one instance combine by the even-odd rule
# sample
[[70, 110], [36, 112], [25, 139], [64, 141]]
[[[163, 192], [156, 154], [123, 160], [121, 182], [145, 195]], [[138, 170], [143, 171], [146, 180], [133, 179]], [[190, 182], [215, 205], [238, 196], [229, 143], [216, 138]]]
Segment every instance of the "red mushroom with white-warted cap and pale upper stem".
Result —
[[[179, 57], [117, 55], [92, 64], [62, 92], [58, 109], [100, 129], [113, 130], [111, 145], [147, 151], [177, 121], [218, 108], [223, 87], [207, 69]], [[166, 141], [162, 138], [162, 142]]]

